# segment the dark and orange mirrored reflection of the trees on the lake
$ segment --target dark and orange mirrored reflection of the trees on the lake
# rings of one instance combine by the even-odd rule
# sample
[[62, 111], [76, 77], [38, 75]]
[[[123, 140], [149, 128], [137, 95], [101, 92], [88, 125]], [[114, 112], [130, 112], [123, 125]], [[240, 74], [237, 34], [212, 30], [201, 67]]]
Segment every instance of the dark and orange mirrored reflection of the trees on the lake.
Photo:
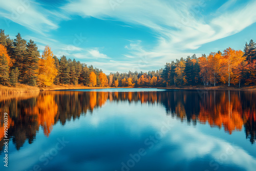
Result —
[[[78, 119], [93, 114], [108, 100], [161, 104], [166, 115], [196, 125], [224, 127], [232, 134], [244, 127], [245, 137], [253, 144], [256, 139], [255, 92], [239, 91], [167, 91], [167, 92], [40, 92], [2, 96], [0, 113], [9, 114], [9, 138], [19, 150], [26, 140], [32, 143], [38, 130], [48, 137], [59, 121]], [[124, 109], [127, 110], [127, 109]], [[4, 115], [0, 115], [0, 148], [3, 148]]]

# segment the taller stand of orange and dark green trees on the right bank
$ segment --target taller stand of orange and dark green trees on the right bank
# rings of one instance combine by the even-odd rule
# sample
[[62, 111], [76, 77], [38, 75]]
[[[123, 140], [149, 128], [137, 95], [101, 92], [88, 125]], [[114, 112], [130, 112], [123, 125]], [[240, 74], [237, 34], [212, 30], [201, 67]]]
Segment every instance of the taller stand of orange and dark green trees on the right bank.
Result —
[[223, 52], [202, 54], [197, 58], [187, 56], [166, 63], [163, 79], [166, 86], [248, 86], [256, 83], [255, 42], [250, 40], [241, 50], [225, 49]]

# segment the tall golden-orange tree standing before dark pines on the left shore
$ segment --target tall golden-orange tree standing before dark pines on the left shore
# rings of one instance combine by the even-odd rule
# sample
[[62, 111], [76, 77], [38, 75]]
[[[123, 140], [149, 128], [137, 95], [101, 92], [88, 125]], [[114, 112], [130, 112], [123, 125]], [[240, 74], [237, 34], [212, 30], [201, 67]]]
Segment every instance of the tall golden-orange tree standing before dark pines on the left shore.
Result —
[[38, 80], [40, 86], [51, 86], [54, 78], [58, 74], [53, 56], [54, 55], [51, 51], [51, 48], [49, 46], [46, 46], [38, 62]]

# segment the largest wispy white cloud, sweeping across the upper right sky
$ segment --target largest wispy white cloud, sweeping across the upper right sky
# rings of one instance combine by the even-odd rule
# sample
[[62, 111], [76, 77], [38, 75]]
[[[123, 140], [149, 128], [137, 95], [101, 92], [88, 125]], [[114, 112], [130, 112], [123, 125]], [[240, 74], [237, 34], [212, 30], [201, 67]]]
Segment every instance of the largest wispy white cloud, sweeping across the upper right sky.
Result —
[[[208, 14], [213, 16], [210, 20], [205, 20], [200, 14], [207, 2], [130, 0], [118, 3], [114, 1], [118, 3], [114, 8], [110, 2], [78, 0], [62, 8], [71, 14], [99, 19], [111, 18], [152, 29], [158, 37], [157, 45], [148, 50], [131, 43], [130, 46], [125, 47], [131, 51], [131, 54], [125, 54], [129, 58], [143, 55], [147, 58], [180, 58], [185, 54], [182, 53], [185, 50], [196, 50], [207, 42], [236, 34], [256, 22], [255, 1], [237, 7], [236, 0], [230, 0], [217, 10], [222, 11], [221, 13], [215, 11], [216, 13]], [[177, 54], [179, 56], [176, 56]]]

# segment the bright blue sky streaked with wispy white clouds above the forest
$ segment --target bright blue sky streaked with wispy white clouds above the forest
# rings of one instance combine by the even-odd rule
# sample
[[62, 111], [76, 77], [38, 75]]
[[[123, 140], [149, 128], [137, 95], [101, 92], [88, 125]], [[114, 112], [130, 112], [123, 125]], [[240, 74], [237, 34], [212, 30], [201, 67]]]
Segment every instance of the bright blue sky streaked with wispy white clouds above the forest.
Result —
[[256, 1], [0, 0], [0, 28], [105, 73], [149, 71], [176, 58], [256, 40]]

